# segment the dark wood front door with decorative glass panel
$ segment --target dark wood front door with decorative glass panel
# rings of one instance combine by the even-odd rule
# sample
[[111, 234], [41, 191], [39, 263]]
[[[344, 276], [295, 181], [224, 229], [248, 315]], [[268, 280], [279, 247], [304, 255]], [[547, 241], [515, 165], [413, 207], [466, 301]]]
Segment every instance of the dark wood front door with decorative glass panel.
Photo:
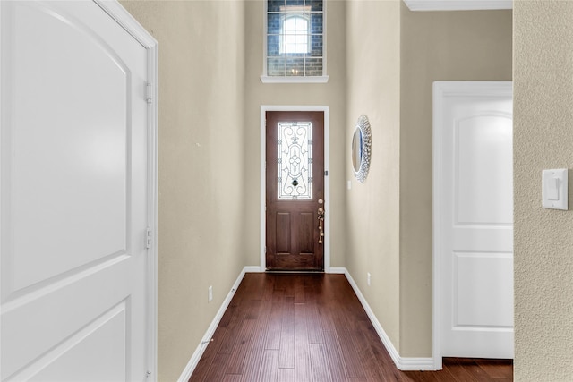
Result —
[[266, 117], [266, 267], [324, 270], [324, 113]]

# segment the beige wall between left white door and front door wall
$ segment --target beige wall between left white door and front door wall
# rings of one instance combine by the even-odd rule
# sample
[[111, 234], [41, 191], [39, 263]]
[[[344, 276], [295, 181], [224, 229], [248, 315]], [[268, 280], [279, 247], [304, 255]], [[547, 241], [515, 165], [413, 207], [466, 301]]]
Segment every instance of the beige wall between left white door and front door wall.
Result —
[[159, 42], [158, 380], [175, 381], [245, 263], [244, 4], [122, 4]]

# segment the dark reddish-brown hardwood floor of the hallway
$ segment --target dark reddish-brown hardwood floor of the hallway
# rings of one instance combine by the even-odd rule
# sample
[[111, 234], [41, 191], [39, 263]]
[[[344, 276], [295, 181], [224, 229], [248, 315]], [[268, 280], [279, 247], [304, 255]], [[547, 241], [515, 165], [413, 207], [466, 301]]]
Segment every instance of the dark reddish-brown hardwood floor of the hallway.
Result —
[[400, 371], [344, 275], [246, 274], [195, 381], [496, 381], [511, 361], [445, 359], [440, 371]]

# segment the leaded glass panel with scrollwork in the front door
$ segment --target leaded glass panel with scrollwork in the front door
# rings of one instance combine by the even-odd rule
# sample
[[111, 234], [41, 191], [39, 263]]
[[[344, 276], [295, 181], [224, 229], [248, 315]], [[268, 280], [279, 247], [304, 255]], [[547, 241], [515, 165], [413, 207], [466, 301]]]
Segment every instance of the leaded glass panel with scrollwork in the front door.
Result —
[[278, 199], [312, 199], [312, 123], [279, 122]]

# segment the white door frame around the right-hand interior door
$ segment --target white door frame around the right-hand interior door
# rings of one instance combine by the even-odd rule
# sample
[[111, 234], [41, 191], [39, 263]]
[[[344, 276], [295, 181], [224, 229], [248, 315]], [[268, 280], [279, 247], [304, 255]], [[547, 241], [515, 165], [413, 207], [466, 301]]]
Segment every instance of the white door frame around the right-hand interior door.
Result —
[[442, 369], [441, 352], [441, 320], [442, 315], [442, 264], [440, 253], [443, 248], [441, 241], [441, 220], [443, 207], [440, 202], [442, 192], [443, 174], [441, 166], [442, 156], [441, 140], [443, 137], [443, 100], [455, 96], [489, 97], [511, 95], [513, 83], [511, 81], [434, 81], [432, 89], [432, 358], [434, 369]]

